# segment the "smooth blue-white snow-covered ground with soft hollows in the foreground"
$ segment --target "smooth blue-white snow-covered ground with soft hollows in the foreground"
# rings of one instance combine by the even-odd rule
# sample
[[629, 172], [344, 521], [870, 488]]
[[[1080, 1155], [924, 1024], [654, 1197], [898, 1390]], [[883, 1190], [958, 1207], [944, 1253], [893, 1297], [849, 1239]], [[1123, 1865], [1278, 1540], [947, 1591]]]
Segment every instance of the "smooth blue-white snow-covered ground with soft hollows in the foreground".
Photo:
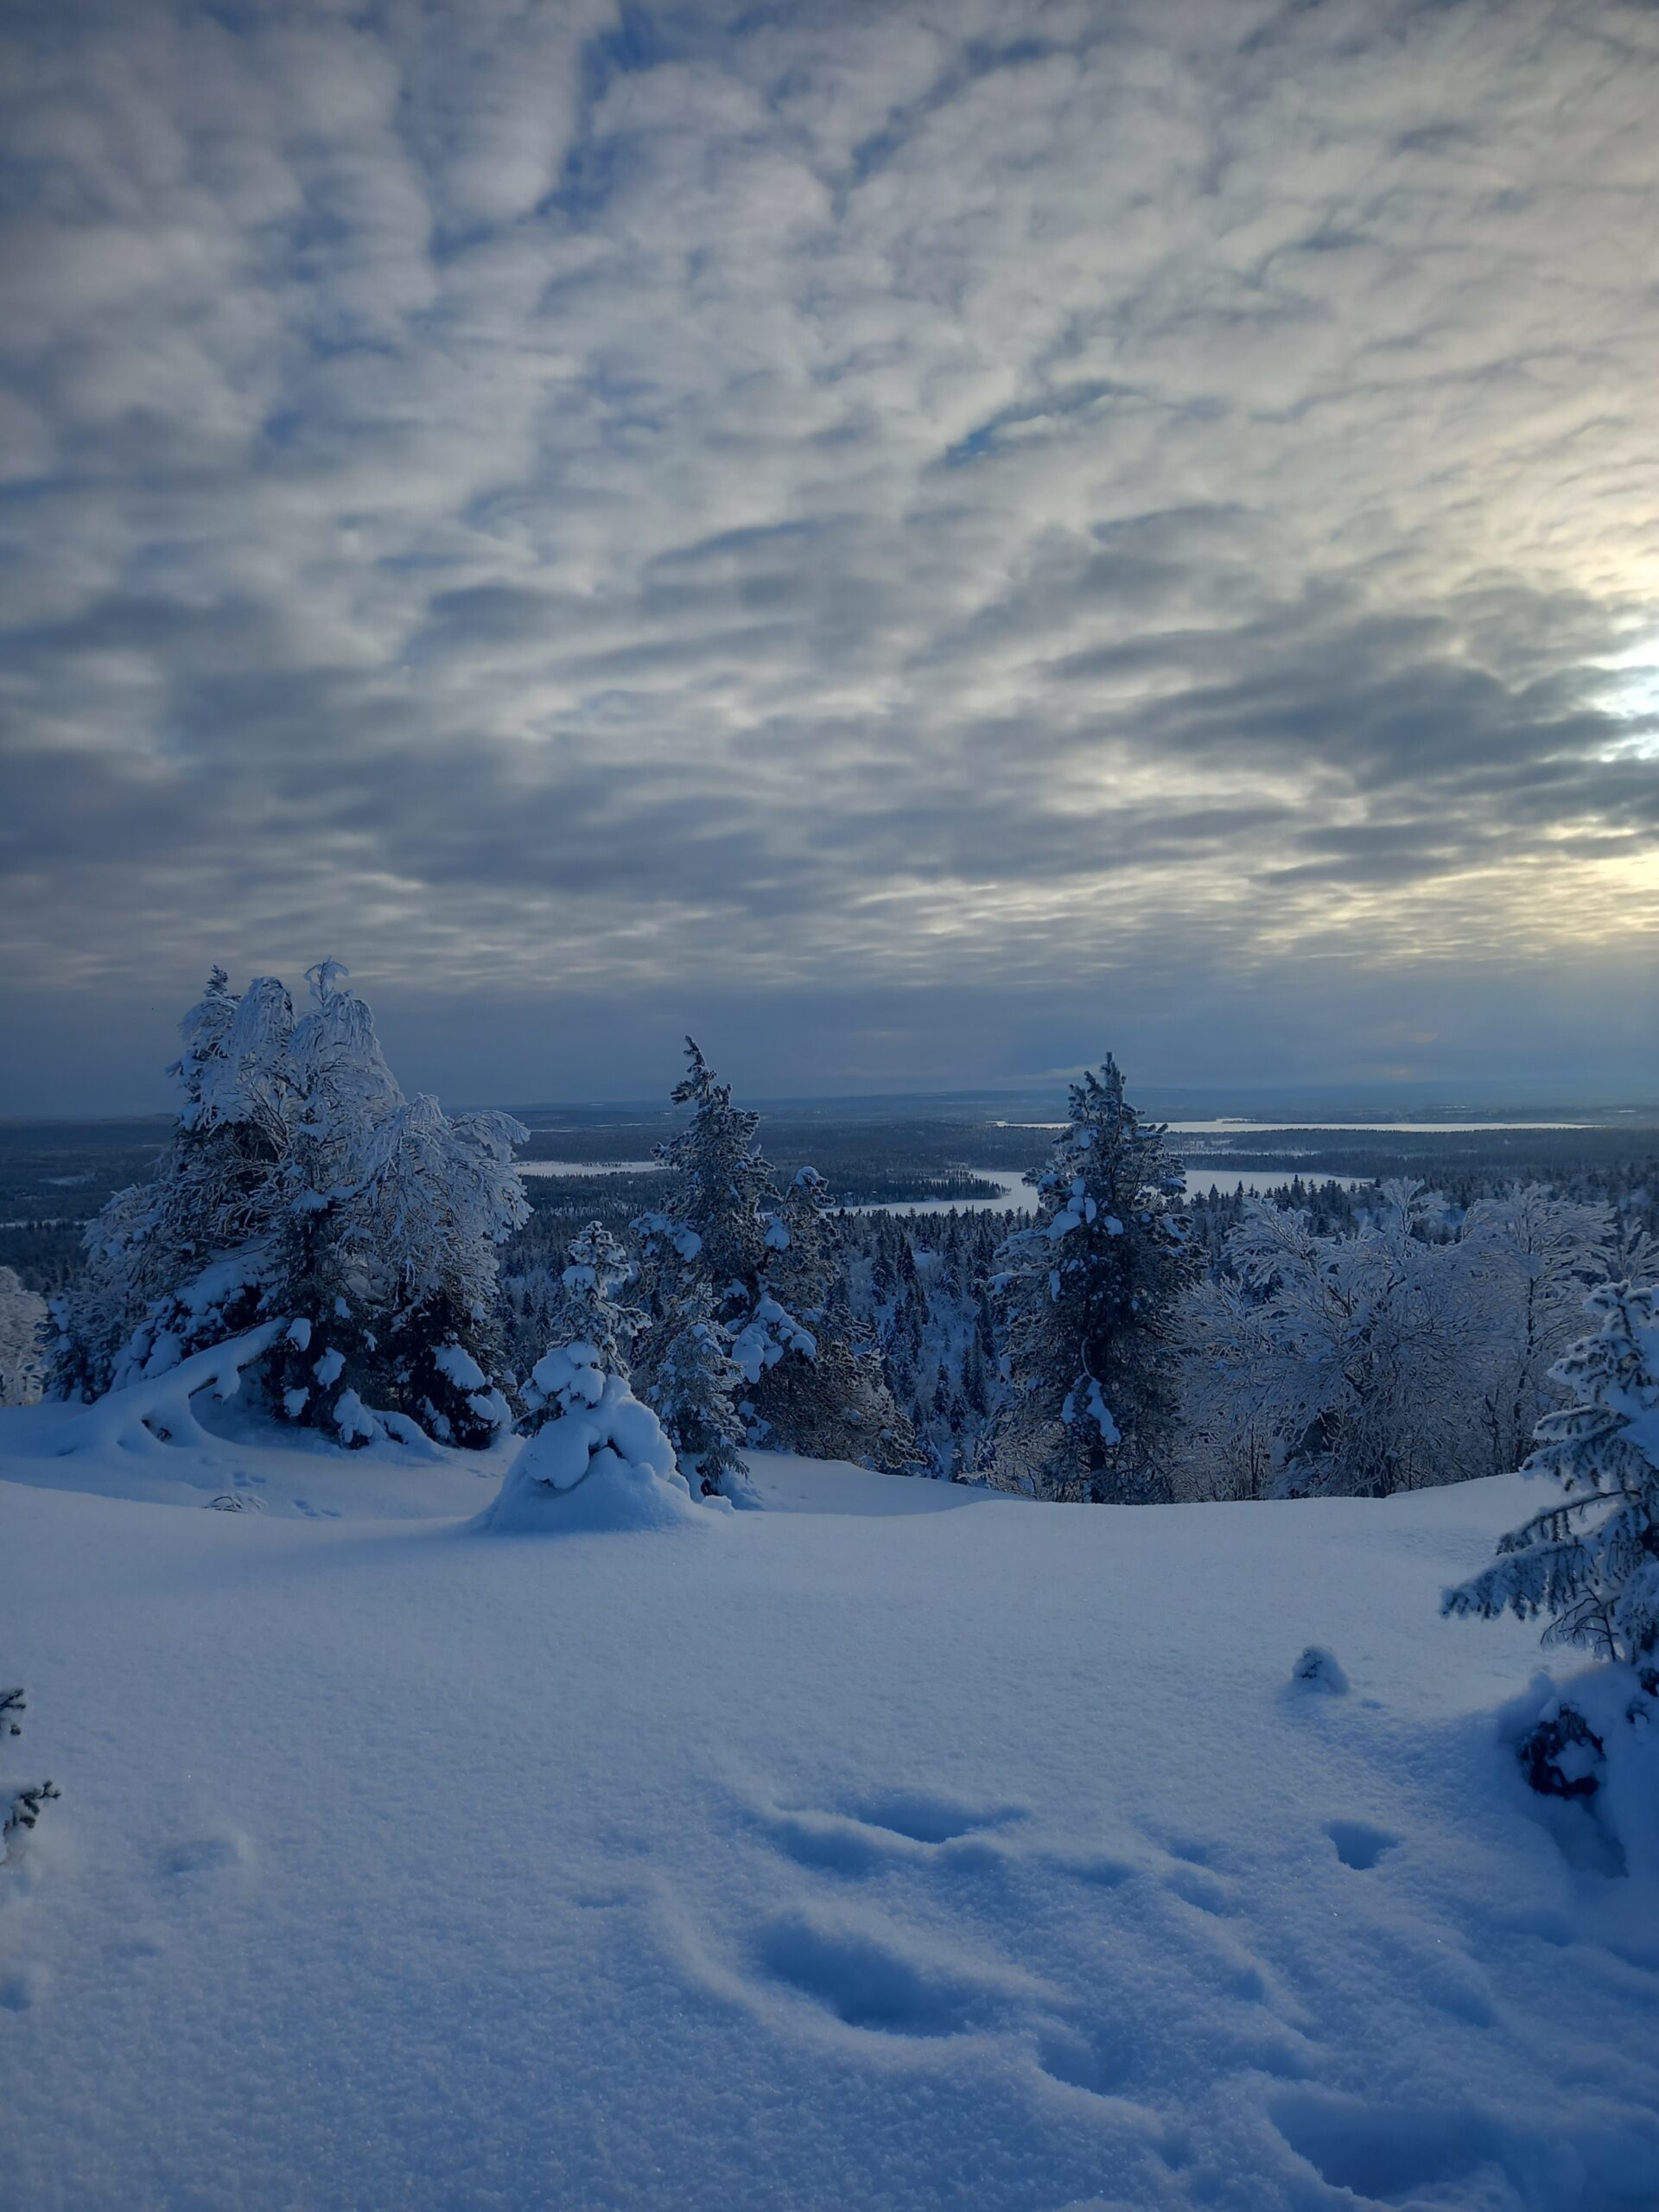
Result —
[[1652, 1882], [1436, 1617], [1513, 1478], [491, 1537], [500, 1460], [66, 1418], [0, 1413], [4, 2205], [1659, 2203]]

